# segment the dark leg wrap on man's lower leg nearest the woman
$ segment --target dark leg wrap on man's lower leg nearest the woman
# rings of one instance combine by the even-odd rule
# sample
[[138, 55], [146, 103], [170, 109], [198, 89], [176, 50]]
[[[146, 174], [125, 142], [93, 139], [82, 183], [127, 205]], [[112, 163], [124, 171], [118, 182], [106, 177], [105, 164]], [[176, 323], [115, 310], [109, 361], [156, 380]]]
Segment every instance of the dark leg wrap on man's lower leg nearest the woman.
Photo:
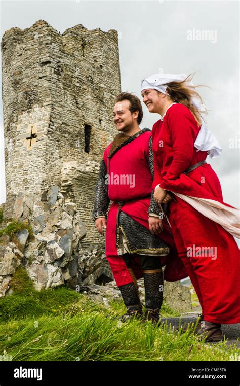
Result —
[[163, 304], [163, 270], [143, 270], [146, 308], [160, 309]]

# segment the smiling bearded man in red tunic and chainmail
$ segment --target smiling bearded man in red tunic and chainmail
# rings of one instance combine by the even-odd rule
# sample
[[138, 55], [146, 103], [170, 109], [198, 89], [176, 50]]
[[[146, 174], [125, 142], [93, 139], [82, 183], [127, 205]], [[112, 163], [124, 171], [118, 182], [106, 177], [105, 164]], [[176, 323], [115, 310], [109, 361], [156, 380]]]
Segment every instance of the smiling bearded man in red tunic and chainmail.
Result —
[[139, 128], [140, 100], [120, 94], [113, 116], [119, 134], [104, 151], [93, 219], [102, 235], [106, 228], [106, 258], [127, 307], [122, 320], [142, 315], [137, 279], [143, 277], [148, 319], [157, 322], [163, 301], [162, 267], [167, 263], [164, 277], [171, 281], [187, 273], [153, 198], [152, 137], [151, 130]]

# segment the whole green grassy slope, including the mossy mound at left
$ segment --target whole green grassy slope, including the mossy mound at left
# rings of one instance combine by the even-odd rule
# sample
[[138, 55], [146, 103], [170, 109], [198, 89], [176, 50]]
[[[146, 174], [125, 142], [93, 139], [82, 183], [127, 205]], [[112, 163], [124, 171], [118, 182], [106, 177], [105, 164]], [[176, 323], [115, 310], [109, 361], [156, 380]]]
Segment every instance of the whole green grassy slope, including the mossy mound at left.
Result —
[[[13, 361], [229, 361], [240, 349], [226, 342], [198, 342], [189, 328], [119, 323], [123, 302], [111, 308], [61, 287], [34, 290], [23, 268], [13, 277], [13, 295], [0, 299], [0, 355]], [[172, 316], [164, 306], [161, 314]]]

